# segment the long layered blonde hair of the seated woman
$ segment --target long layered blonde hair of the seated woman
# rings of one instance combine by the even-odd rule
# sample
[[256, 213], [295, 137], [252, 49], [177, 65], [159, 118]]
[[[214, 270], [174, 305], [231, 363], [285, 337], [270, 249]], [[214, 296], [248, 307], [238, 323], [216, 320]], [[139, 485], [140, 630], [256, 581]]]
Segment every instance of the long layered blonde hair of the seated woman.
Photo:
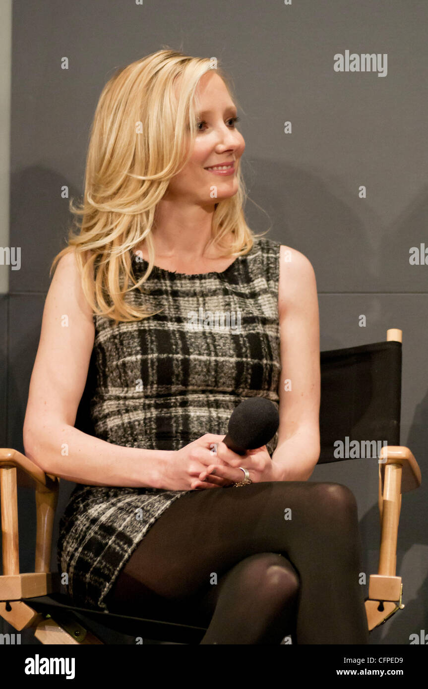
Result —
[[[197, 132], [196, 87], [212, 66], [208, 58], [159, 50], [117, 70], [99, 97], [90, 132], [83, 204], [74, 207], [70, 201], [70, 212], [82, 216], [80, 225], [73, 218], [79, 233], [70, 227], [68, 245], [55, 256], [50, 274], [63, 254], [74, 251], [92, 311], [112, 318], [115, 324], [152, 315], [125, 296], [143, 285], [154, 266], [156, 205], [170, 178], [192, 154], [189, 141]], [[231, 93], [227, 76], [216, 70]], [[208, 244], [218, 245], [230, 256], [247, 254], [256, 237], [244, 219], [247, 192], [241, 165], [237, 178], [236, 194], [215, 206]], [[136, 282], [132, 256], [143, 240], [149, 265]]]

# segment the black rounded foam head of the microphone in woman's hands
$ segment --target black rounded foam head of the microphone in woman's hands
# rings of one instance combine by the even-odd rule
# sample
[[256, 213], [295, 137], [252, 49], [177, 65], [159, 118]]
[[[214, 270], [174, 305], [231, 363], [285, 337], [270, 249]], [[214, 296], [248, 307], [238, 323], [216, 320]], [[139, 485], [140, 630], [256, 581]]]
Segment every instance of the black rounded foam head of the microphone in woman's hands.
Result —
[[263, 447], [279, 426], [278, 409], [263, 397], [249, 397], [232, 411], [223, 442], [237, 455]]

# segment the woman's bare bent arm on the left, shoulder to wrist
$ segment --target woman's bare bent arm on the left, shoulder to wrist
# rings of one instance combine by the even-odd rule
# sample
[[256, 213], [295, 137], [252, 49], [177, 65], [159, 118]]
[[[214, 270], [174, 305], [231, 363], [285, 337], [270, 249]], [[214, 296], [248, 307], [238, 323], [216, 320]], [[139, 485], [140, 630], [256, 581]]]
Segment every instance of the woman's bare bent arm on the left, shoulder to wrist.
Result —
[[26, 456], [46, 473], [76, 483], [157, 488], [170, 452], [122, 447], [74, 428], [94, 330], [70, 252], [59, 260], [43, 309], [23, 424]]

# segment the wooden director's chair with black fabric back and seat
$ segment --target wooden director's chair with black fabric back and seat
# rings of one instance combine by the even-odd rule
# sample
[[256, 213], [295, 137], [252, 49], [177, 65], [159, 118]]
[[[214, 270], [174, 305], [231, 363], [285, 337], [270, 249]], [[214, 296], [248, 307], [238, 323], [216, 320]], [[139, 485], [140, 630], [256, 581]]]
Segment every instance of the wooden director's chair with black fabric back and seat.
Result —
[[[337, 442], [382, 445], [371, 462], [378, 463], [380, 554], [378, 573], [369, 577], [365, 600], [369, 630], [383, 624], [402, 604], [401, 577], [396, 576], [396, 547], [401, 495], [418, 488], [419, 466], [407, 447], [400, 446], [402, 331], [389, 329], [386, 342], [320, 352], [321, 401], [318, 464], [349, 460], [336, 457]], [[88, 426], [94, 384], [93, 358], [75, 426]], [[92, 433], [93, 435], [93, 433]], [[387, 442], [387, 446], [385, 446]], [[372, 447], [372, 444], [371, 444]], [[37, 536], [34, 572], [19, 572], [17, 511], [19, 485], [34, 485]], [[32, 628], [42, 644], [109, 644], [114, 638], [139, 637], [179, 644], [199, 644], [206, 628], [174, 619], [143, 619], [103, 613], [73, 604], [50, 572], [52, 527], [59, 479], [48, 475], [14, 449], [0, 449], [3, 575], [0, 615], [16, 630]], [[121, 641], [119, 641], [121, 643]], [[135, 641], [134, 641], [135, 643]]]

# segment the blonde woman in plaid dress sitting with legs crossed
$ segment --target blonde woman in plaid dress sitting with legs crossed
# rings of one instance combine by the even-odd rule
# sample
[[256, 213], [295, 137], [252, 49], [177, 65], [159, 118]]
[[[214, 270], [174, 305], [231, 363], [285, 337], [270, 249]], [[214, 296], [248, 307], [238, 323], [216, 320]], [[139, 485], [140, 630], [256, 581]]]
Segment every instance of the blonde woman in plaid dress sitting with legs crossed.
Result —
[[[76, 604], [205, 623], [202, 644], [367, 644], [354, 495], [307, 481], [314, 271], [245, 223], [245, 143], [212, 66], [160, 50], [105, 85], [80, 231], [54, 260], [26, 453], [78, 484], [58, 544]], [[74, 428], [92, 353], [94, 436]], [[236, 455], [227, 422], [256, 395], [278, 405], [278, 433]]]

